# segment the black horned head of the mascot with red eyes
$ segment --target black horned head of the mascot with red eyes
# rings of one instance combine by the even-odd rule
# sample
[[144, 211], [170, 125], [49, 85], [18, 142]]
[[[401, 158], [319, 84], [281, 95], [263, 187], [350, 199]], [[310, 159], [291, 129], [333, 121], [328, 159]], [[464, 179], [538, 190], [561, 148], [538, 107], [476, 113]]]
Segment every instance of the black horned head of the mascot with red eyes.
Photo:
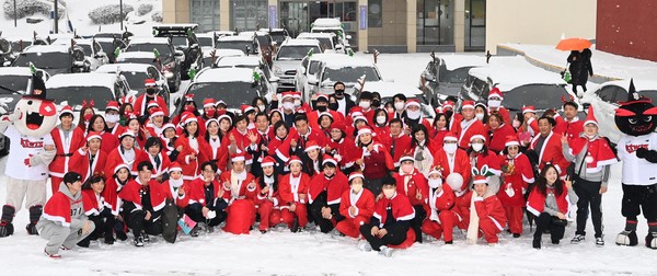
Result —
[[645, 96], [639, 96], [634, 89], [634, 81], [630, 81], [627, 90], [627, 101], [621, 102], [616, 108], [614, 120], [616, 127], [626, 135], [642, 136], [653, 133], [657, 127], [657, 107], [653, 101]]

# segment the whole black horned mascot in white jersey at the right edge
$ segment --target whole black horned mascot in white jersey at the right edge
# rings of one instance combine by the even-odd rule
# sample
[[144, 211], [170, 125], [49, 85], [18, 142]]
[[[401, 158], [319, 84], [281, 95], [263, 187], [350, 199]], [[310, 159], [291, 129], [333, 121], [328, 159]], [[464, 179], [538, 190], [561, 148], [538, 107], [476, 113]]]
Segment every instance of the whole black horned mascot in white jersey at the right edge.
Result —
[[623, 199], [621, 212], [625, 217], [625, 230], [616, 237], [616, 244], [634, 246], [637, 217], [648, 221], [645, 244], [657, 249], [657, 107], [650, 99], [639, 96], [630, 82], [627, 102], [620, 103], [615, 124], [624, 134], [618, 145], [623, 161]]

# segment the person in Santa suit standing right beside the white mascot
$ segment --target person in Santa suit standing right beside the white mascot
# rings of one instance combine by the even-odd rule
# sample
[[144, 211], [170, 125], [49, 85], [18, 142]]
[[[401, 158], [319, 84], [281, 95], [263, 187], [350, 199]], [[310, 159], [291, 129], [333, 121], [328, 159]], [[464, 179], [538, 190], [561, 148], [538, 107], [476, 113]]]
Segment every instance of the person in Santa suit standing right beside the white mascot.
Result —
[[73, 152], [81, 143], [84, 143], [82, 129], [73, 125], [73, 110], [70, 106], [66, 105], [61, 108], [59, 120], [61, 124], [50, 131], [55, 149], [57, 150], [55, 159], [53, 159], [53, 162], [48, 166], [50, 171], [50, 191], [53, 194], [59, 191], [59, 184], [61, 184], [64, 174], [69, 171], [68, 163]]

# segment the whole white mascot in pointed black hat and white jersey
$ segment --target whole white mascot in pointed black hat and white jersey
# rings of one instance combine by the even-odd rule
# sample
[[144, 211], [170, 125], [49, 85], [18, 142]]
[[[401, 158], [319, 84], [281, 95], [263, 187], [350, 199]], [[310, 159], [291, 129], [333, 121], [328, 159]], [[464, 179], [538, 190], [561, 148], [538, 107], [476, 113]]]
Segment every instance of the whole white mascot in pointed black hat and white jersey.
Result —
[[11, 115], [0, 120], [0, 131], [11, 141], [7, 160], [7, 200], [2, 206], [0, 237], [13, 234], [11, 223], [21, 209], [23, 199], [30, 210], [27, 233], [38, 234], [36, 222], [46, 203], [48, 164], [55, 158], [55, 142], [50, 130], [57, 124], [57, 107], [46, 99], [46, 85], [41, 77], [33, 76], [33, 89], [24, 95]]

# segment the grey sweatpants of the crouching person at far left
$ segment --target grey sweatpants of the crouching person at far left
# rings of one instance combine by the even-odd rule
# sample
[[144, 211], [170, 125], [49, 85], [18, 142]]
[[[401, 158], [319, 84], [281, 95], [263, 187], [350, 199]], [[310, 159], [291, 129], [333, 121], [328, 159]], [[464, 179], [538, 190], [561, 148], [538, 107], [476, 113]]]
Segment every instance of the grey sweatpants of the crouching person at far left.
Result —
[[38, 221], [38, 223], [36, 223], [38, 234], [42, 238], [48, 240], [48, 243], [46, 244], [46, 252], [48, 252], [49, 254], [57, 254], [61, 245], [64, 245], [67, 249], [72, 249], [79, 241], [87, 238], [87, 235], [91, 234], [94, 228], [94, 223], [91, 223], [89, 232], [80, 234], [80, 228], [62, 227], [57, 222], [53, 222], [49, 220], [42, 219]]

